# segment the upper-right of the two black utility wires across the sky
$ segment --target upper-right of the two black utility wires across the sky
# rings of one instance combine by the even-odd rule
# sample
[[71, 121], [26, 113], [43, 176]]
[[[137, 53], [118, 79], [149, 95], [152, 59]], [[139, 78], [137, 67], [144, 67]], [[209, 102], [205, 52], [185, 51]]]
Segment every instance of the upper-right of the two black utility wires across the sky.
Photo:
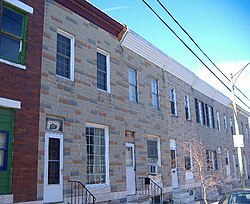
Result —
[[[207, 54], [200, 48], [200, 46], [194, 41], [194, 39], [189, 35], [189, 33], [180, 25], [180, 23], [174, 18], [174, 16], [167, 10], [167, 8], [157, 0], [160, 6], [167, 12], [167, 14], [173, 19], [173, 21], [181, 28], [181, 30], [189, 37], [189, 39], [195, 44], [195, 46], [202, 52], [202, 54], [212, 63], [212, 65], [230, 82], [230, 79], [221, 71], [221, 69], [207, 56]], [[237, 86], [235, 88], [250, 101], [250, 99], [239, 89]]]

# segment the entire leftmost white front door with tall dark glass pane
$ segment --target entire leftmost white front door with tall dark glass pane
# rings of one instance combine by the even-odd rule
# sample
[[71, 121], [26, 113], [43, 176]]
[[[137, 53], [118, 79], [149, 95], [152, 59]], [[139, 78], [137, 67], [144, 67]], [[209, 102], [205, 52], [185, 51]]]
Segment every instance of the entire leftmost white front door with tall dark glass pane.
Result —
[[44, 203], [63, 201], [63, 134], [45, 133]]

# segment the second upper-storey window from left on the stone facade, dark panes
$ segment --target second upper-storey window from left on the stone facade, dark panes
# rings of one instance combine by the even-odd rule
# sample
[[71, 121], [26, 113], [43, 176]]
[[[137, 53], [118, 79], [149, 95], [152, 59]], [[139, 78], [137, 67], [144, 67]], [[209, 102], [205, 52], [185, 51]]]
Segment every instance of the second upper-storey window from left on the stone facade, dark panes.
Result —
[[110, 57], [100, 49], [97, 50], [97, 88], [110, 92]]

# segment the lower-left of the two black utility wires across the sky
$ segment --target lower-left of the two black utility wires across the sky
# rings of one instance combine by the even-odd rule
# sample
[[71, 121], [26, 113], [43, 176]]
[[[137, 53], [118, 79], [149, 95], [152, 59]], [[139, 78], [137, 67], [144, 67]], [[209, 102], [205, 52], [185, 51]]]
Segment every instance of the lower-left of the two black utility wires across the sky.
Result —
[[[174, 30], [156, 13], [156, 11], [145, 1], [143, 3], [160, 19], [160, 21], [182, 42], [182, 44], [231, 92], [231, 89], [194, 53], [194, 51], [174, 32]], [[238, 99], [239, 97], [236, 96]], [[239, 99], [246, 107], [250, 107]]]

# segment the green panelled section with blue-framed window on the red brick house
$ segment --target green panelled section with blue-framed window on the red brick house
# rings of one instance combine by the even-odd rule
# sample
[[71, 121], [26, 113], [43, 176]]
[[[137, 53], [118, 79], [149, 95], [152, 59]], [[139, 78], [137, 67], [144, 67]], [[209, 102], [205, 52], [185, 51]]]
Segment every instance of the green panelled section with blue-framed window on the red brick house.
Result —
[[0, 195], [11, 193], [14, 109], [0, 108]]

